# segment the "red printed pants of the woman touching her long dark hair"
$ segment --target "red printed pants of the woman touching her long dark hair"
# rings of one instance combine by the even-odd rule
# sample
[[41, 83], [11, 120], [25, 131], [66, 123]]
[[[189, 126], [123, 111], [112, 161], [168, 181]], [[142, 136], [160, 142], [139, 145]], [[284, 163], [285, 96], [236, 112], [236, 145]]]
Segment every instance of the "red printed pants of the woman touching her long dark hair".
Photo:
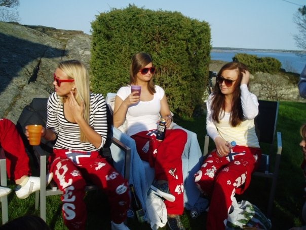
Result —
[[242, 194], [251, 182], [251, 174], [261, 156], [259, 148], [235, 146], [233, 151], [241, 153], [229, 157], [219, 157], [216, 150], [204, 160], [195, 174], [198, 188], [211, 197], [206, 229], [225, 229], [227, 215], [232, 205], [232, 197]]

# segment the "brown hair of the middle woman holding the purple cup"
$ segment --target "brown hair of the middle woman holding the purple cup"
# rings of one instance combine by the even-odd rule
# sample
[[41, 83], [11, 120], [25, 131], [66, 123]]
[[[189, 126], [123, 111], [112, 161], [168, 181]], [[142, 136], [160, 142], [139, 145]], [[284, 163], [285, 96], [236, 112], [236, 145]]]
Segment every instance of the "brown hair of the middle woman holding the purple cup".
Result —
[[[152, 58], [147, 53], [135, 53], [132, 57], [132, 63], [130, 65], [130, 85], [136, 84], [136, 75], [139, 70], [144, 68], [148, 63], [152, 62]], [[155, 84], [153, 78], [148, 83], [148, 90], [151, 94], [156, 93]]]

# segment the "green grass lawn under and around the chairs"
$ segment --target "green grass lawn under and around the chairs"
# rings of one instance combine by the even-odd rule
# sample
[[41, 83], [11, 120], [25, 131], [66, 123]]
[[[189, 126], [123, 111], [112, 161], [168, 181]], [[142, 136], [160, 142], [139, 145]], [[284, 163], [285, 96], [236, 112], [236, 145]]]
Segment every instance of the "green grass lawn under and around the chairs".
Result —
[[[278, 178], [276, 197], [272, 214], [273, 229], [289, 229], [292, 226], [301, 226], [301, 208], [304, 202], [304, 177], [300, 169], [302, 153], [299, 147], [301, 137], [299, 127], [306, 122], [306, 103], [281, 102], [277, 131], [282, 133], [283, 151]], [[205, 117], [177, 118], [175, 121], [181, 126], [197, 133], [198, 141], [203, 149], [204, 135], [206, 134]], [[271, 181], [269, 179], [252, 179], [248, 190], [237, 200], [248, 200], [263, 212], [267, 209]], [[10, 187], [14, 185], [9, 182]], [[86, 195], [88, 209], [88, 229], [110, 229], [109, 206], [105, 195], [101, 191], [91, 191]], [[12, 192], [9, 195], [9, 220], [26, 214], [40, 215], [34, 209], [34, 194], [25, 200], [20, 200]], [[1, 217], [1, 215], [0, 215]], [[198, 219], [190, 219], [185, 211], [182, 221], [189, 229], [205, 229], [206, 213]], [[61, 216], [60, 196], [47, 197], [47, 223], [52, 229], [66, 229]], [[149, 224], [139, 224], [136, 220], [128, 220], [131, 229], [150, 229]], [[165, 226], [163, 229], [168, 229]]]

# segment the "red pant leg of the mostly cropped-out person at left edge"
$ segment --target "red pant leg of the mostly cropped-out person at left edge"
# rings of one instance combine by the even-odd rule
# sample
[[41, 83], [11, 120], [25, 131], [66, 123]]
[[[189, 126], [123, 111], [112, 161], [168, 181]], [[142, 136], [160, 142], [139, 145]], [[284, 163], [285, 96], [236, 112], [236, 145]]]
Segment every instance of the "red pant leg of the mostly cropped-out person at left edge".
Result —
[[0, 145], [4, 149], [7, 173], [11, 180], [30, 175], [29, 157], [15, 124], [8, 119], [0, 119]]

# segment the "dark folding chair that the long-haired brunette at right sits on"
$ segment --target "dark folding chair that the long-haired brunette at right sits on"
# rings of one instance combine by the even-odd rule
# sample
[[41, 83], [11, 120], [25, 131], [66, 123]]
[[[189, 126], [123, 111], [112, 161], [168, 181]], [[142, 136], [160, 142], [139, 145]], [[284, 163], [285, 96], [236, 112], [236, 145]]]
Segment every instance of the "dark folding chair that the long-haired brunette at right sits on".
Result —
[[[265, 177], [272, 179], [269, 202], [267, 206], [267, 217], [271, 217], [273, 201], [276, 191], [277, 178], [282, 154], [282, 134], [277, 132], [277, 151], [274, 152], [275, 132], [278, 118], [279, 102], [258, 100], [259, 113], [255, 118], [256, 134], [259, 144], [269, 145], [269, 152], [262, 152], [259, 167], [253, 176]], [[203, 155], [208, 153], [209, 136], [205, 136]], [[274, 158], [274, 166], [270, 158]]]

